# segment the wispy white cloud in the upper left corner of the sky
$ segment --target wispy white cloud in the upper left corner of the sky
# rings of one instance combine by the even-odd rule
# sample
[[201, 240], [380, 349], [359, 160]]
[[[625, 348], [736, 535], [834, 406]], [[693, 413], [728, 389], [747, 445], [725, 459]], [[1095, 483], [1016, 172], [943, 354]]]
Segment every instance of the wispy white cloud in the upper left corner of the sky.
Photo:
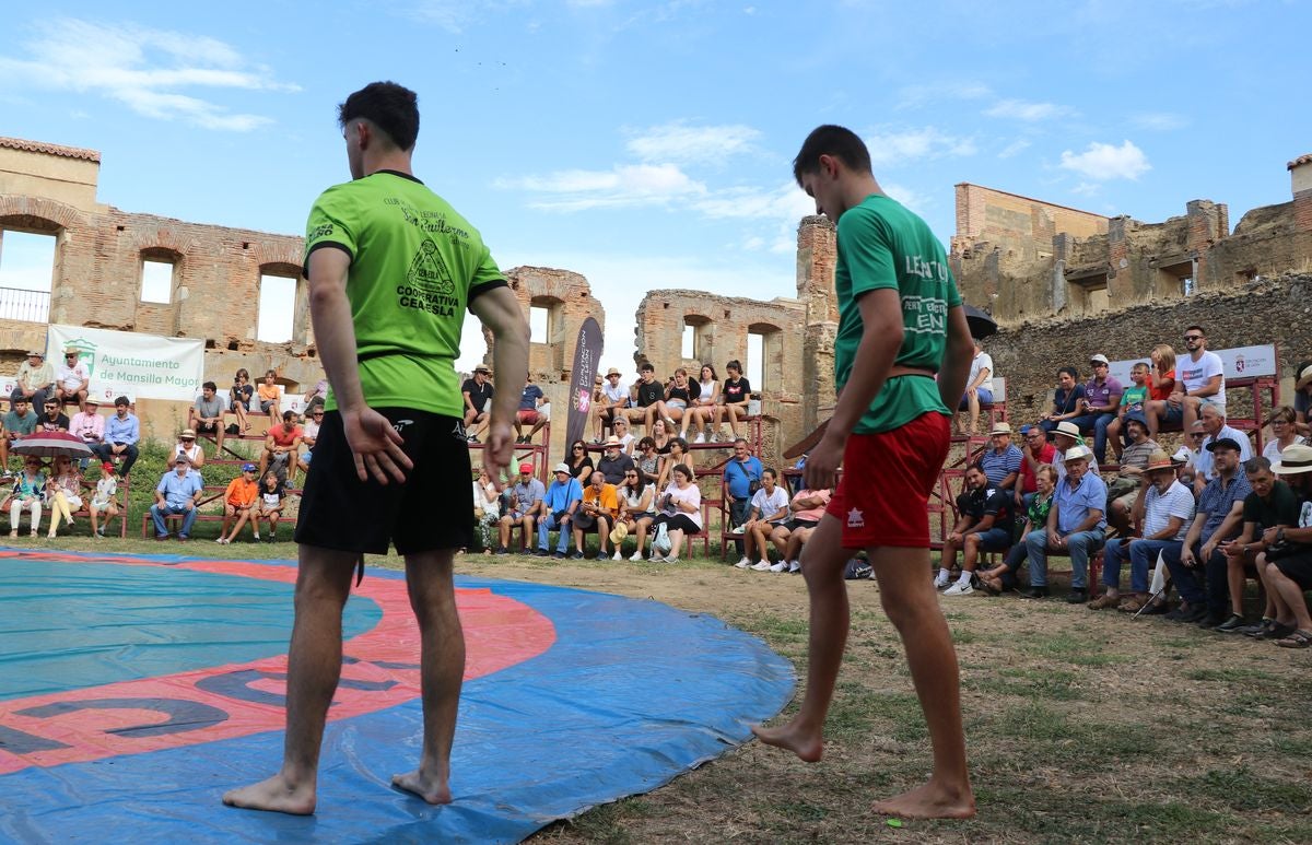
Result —
[[55, 20], [24, 47], [26, 59], [0, 56], [0, 80], [93, 93], [146, 117], [206, 129], [248, 131], [270, 118], [235, 114], [182, 89], [299, 91], [222, 41], [131, 24]]

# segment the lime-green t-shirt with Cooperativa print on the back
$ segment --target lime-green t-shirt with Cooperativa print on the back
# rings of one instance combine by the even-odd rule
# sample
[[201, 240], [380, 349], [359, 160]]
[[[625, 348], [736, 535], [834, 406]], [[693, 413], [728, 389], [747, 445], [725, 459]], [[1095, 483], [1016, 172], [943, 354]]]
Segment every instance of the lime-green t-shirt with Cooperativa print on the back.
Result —
[[[346, 298], [370, 407], [462, 416], [454, 362], [464, 308], [505, 285], [478, 230], [417, 178], [379, 171], [315, 201], [307, 268], [320, 247], [350, 255]], [[329, 391], [327, 408], [336, 407]]]

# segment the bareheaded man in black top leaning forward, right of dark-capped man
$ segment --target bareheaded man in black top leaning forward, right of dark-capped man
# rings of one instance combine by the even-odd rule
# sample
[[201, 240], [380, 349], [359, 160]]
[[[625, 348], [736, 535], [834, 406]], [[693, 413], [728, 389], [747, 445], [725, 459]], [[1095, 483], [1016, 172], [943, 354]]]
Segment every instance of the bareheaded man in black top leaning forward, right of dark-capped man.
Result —
[[[1275, 478], [1271, 472], [1271, 462], [1263, 457], [1249, 458], [1244, 462], [1244, 475], [1248, 478], [1253, 492], [1244, 497], [1244, 529], [1233, 541], [1220, 545], [1221, 554], [1225, 555], [1225, 580], [1229, 587], [1231, 614], [1215, 630], [1223, 634], [1236, 632], [1244, 626], [1244, 583], [1248, 580], [1248, 569], [1256, 567], [1257, 555], [1267, 551], [1263, 539], [1267, 529], [1290, 529], [1299, 524], [1300, 503], [1288, 484]], [[1263, 588], [1266, 583], [1262, 573], [1257, 572], [1258, 581]], [[1266, 609], [1263, 619], [1277, 617], [1275, 600], [1270, 589], [1266, 592]], [[1261, 630], [1256, 626], [1253, 632]]]

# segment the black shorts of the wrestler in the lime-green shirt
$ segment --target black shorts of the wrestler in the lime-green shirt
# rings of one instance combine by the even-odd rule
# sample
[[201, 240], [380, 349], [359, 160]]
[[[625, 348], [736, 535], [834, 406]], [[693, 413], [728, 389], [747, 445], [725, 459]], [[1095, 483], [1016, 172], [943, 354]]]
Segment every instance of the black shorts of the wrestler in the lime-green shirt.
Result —
[[342, 429], [329, 411], [315, 441], [297, 518], [297, 542], [337, 551], [401, 555], [474, 545], [470, 449], [458, 417], [409, 408], [377, 408], [400, 424], [415, 467], [405, 483], [361, 482]]

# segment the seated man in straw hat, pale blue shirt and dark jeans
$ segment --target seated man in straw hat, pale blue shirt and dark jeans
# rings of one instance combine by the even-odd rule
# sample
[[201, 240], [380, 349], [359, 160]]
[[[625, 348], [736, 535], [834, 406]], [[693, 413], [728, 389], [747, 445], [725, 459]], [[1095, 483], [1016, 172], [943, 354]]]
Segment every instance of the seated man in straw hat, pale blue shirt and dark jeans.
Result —
[[[1148, 426], [1144, 425], [1144, 433]], [[1117, 608], [1139, 613], [1148, 604], [1148, 569], [1157, 555], [1179, 554], [1189, 522], [1194, 518], [1194, 495], [1176, 480], [1176, 467], [1157, 450], [1144, 464], [1148, 483], [1135, 493], [1134, 516], [1143, 522], [1143, 537], [1117, 537], [1103, 551], [1102, 585], [1106, 592], [1089, 602], [1092, 610]], [[1130, 562], [1131, 596], [1120, 598], [1120, 566]]]

